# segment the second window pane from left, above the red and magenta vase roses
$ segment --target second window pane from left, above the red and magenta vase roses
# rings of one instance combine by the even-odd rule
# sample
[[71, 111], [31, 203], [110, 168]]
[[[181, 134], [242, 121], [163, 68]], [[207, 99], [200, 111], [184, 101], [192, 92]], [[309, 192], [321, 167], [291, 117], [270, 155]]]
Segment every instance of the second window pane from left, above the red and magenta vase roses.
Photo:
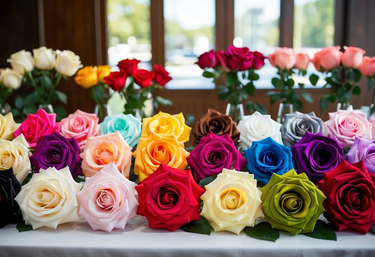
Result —
[[172, 80], [168, 89], [214, 88], [194, 64], [215, 48], [214, 0], [164, 0], [165, 69]]

